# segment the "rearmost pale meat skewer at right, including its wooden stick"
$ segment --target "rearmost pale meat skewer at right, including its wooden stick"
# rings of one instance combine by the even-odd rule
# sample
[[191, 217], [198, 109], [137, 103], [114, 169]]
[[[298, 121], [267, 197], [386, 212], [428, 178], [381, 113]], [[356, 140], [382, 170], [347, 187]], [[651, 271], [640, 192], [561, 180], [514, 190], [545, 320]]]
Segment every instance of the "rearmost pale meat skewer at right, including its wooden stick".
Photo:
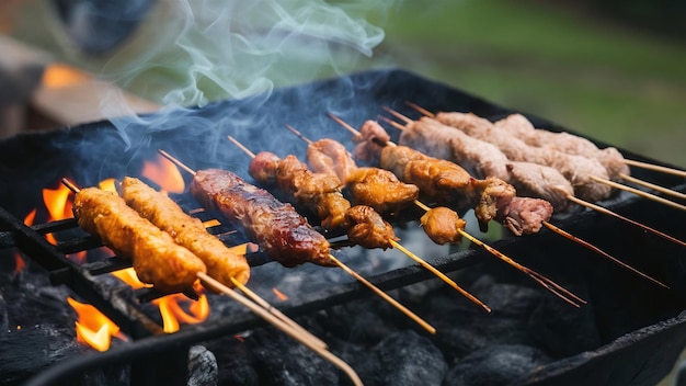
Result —
[[[419, 106], [415, 103], [405, 103], [423, 115], [430, 117], [435, 116], [434, 113]], [[626, 166], [633, 166], [686, 178], [686, 171], [684, 170], [626, 159], [616, 148], [608, 147], [605, 149], [599, 149], [591, 140], [580, 136], [575, 136], [569, 133], [552, 133], [545, 129], [535, 128], [534, 125], [531, 125], [531, 123], [521, 114], [511, 114], [507, 117], [496, 122], [495, 124], [505, 128], [511, 134], [516, 135], [518, 138], [522, 138], [524, 141], [531, 146], [556, 148], [568, 154], [596, 158], [608, 169], [610, 180], [613, 181], [617, 177], [625, 179], [625, 177], [629, 174], [629, 169]], [[621, 163], [624, 163], [624, 166], [621, 166]]]

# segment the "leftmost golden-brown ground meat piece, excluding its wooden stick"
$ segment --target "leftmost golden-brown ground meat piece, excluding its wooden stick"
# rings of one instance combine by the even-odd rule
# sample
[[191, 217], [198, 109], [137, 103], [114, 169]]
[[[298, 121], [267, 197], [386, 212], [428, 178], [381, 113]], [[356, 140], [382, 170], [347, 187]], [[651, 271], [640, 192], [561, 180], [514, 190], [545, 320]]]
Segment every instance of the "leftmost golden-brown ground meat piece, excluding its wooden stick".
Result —
[[73, 200], [73, 215], [81, 228], [99, 236], [119, 257], [132, 259], [141, 282], [162, 292], [192, 288], [197, 273], [207, 271], [198, 257], [140, 217], [114, 192], [81, 189]]

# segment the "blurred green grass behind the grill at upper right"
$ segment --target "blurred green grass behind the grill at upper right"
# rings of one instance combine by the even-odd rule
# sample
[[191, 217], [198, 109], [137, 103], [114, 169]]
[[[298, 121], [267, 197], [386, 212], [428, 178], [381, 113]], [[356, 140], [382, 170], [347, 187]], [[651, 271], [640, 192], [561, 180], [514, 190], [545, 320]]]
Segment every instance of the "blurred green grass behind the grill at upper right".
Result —
[[402, 2], [382, 18], [390, 63], [686, 166], [682, 41], [537, 1]]

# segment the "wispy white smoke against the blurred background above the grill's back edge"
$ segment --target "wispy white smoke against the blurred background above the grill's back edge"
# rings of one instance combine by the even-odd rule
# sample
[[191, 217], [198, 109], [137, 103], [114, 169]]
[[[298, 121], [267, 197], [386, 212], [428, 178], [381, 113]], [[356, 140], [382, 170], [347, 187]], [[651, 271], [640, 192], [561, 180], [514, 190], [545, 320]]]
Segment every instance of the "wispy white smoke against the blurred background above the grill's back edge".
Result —
[[384, 31], [364, 18], [389, 4], [348, 1], [346, 11], [319, 0], [159, 0], [100, 72], [165, 106], [270, 92], [371, 57]]

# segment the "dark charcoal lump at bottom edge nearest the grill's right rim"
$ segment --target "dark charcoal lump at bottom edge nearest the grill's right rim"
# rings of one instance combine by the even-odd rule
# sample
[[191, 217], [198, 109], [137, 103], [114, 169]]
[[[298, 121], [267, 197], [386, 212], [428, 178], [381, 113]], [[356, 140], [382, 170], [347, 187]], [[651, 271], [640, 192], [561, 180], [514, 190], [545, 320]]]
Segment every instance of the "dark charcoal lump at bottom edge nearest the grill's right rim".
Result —
[[448, 372], [444, 386], [517, 385], [550, 359], [540, 350], [518, 344], [490, 345], [465, 356]]

